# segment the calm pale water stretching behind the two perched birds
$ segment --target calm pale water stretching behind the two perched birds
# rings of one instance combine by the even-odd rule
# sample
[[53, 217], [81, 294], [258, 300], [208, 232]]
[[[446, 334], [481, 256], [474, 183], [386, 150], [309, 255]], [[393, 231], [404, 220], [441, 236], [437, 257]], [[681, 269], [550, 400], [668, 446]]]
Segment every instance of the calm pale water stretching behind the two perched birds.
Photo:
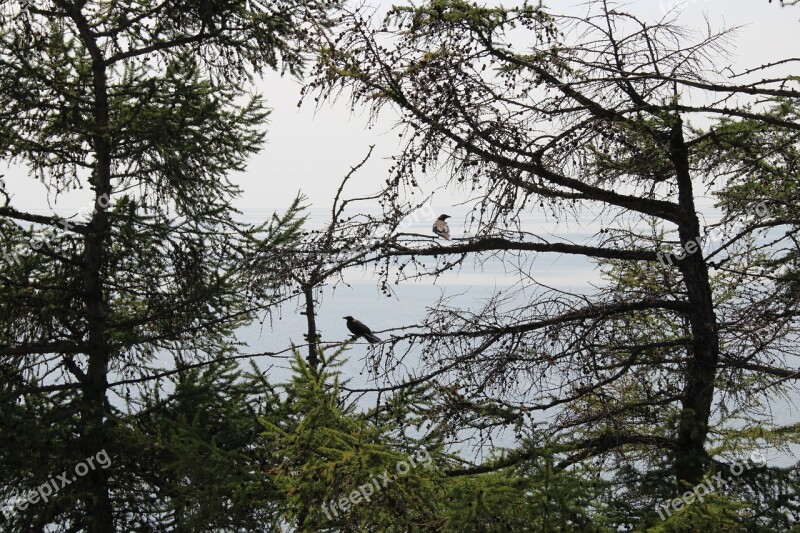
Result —
[[[440, 209], [434, 210], [439, 212]], [[449, 209], [453, 212], [453, 209]], [[244, 213], [245, 220], [256, 223], [269, 216], [269, 210], [250, 210]], [[451, 233], [454, 237], [463, 236], [460, 223], [453, 222], [463, 219], [465, 213], [454, 214], [451, 219]], [[318, 228], [329, 220], [330, 211], [314, 209], [310, 212], [308, 226]], [[414, 218], [414, 217], [412, 217]], [[412, 220], [403, 226], [403, 232], [429, 234], [433, 220]], [[544, 220], [531, 219], [526, 221], [529, 229], [537, 226], [544, 227]], [[570, 239], [583, 239], [589, 236], [588, 232], [573, 233]], [[431, 259], [431, 264], [432, 264]], [[591, 283], [600, 281], [592, 271], [589, 261], [578, 256], [540, 256], [533, 265], [522, 265], [525, 272], [535, 275], [537, 281], [548, 286], [563, 289], [591, 292]], [[390, 276], [390, 281], [395, 279]], [[440, 298], [452, 298], [451, 305], [465, 307], [480, 307], [485, 298], [490, 297], [495, 291], [503, 291], [517, 283], [519, 272], [517, 267], [505, 263], [500, 258], [489, 258], [487, 261], [477, 263], [473, 260], [466, 261], [461, 269], [454, 270], [437, 280], [425, 279], [422, 281], [401, 282], [392, 285], [394, 294], [386, 297], [381, 293], [377, 277], [373, 278], [371, 271], [354, 270], [345, 276], [346, 283], [336, 287], [326, 287], [321, 292], [318, 305], [317, 327], [322, 334], [323, 342], [341, 341], [348, 338], [349, 332], [345, 327], [344, 315], [352, 315], [366, 323], [374, 331], [396, 328], [403, 325], [417, 324], [422, 321], [427, 310], [436, 304]], [[302, 302], [300, 302], [302, 305]], [[300, 315], [301, 309], [296, 305], [286, 305], [271, 319], [272, 328], [269, 327], [269, 318], [263, 327], [254, 325], [245, 328], [239, 339], [247, 342], [251, 351], [264, 352], [276, 351], [278, 347], [303, 343], [303, 334], [306, 330], [306, 319]], [[359, 346], [358, 350], [364, 347]], [[354, 349], [356, 351], [356, 349]], [[357, 358], [357, 354], [351, 354]], [[286, 365], [274, 366], [276, 376], [283, 377]], [[355, 370], [355, 363], [347, 367]], [[360, 368], [360, 365], [359, 365]], [[357, 373], [354, 375], [357, 376]]]

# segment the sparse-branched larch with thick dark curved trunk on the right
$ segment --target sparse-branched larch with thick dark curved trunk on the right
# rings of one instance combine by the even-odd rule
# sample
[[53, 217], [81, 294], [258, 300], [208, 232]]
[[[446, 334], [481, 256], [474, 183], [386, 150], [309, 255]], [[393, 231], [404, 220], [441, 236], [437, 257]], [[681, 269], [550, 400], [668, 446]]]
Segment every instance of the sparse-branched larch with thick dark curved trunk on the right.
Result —
[[[383, 23], [356, 10], [322, 47], [309, 93], [344, 88], [354, 104], [402, 114], [393, 194], [444, 167], [448, 185], [480, 198], [471, 238], [445, 250], [398, 238], [390, 255], [555, 253], [611, 265], [590, 295], [524, 271], [534, 278], [525, 305], [498, 296], [482, 309], [440, 306], [393, 341], [420, 345], [428, 375], [449, 376], [466, 404], [551, 414], [562, 468], [666, 459], [665, 490], [676, 491], [779, 433], [797, 439], [759, 411], [800, 377], [798, 197], [779, 192], [796, 190], [800, 90], [770, 66], [719, 68], [730, 38], [692, 43], [608, 2], [576, 20], [431, 0]], [[769, 169], [761, 194], [754, 168]], [[717, 228], [701, 223], [703, 188], [724, 211]], [[544, 208], [604, 227], [575, 244], [515, 225]], [[699, 250], [712, 229], [720, 242]], [[741, 419], [764, 430], [737, 431]]]

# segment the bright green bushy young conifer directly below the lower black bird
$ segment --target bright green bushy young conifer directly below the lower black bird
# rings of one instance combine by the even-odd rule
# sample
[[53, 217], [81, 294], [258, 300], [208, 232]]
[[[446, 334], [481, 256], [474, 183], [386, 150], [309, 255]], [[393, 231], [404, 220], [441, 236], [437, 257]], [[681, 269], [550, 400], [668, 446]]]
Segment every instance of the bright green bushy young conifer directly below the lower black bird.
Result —
[[[437, 450], [404, 437], [397, 422], [376, 421], [370, 413], [343, 406], [338, 356], [320, 354], [323, 363], [316, 370], [295, 353], [285, 403], [262, 421], [265, 445], [279, 450], [279, 464], [269, 476], [285, 495], [284, 519], [300, 531], [424, 529], [435, 523], [434, 502], [441, 494], [441, 475], [433, 468]], [[417, 456], [421, 464], [398, 473], [399, 464], [410, 466]], [[342, 510], [342, 498], [369, 485], [375, 489], [370, 501]]]

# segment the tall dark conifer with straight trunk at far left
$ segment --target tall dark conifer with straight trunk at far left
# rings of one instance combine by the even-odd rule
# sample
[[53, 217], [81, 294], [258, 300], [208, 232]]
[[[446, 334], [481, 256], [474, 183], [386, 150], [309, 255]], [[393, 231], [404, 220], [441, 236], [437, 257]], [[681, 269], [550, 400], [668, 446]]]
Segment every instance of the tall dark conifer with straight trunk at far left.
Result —
[[[18, 448], [3, 452], [4, 501], [114, 450], [114, 427], [130, 420], [109, 394], [168, 375], [162, 350], [179, 368], [230, 357], [233, 331], [279, 297], [274, 273], [241, 265], [292, 238], [297, 206], [242, 225], [226, 176], [264, 137], [267, 111], [249, 82], [265, 69], [299, 72], [305, 40], [335, 5], [4, 4], [2, 156], [54, 197], [89, 190], [92, 206], [86, 220], [33, 214], [2, 191], [3, 438]], [[126, 529], [135, 502], [116, 500], [123, 477], [94, 469], [7, 529]]]

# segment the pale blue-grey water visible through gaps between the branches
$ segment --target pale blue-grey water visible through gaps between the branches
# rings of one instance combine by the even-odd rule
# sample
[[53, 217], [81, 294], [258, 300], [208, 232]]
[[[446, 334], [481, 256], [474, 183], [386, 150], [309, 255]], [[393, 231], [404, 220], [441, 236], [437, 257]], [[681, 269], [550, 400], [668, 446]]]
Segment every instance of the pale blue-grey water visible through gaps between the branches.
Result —
[[[263, 220], [267, 212], [267, 210], [248, 211], [245, 217], [251, 222], [257, 222]], [[458, 213], [452, 220], [458, 220], [458, 215], [464, 213]], [[312, 210], [309, 225], [312, 228], [319, 227], [328, 220], [328, 217], [327, 210]], [[427, 234], [430, 232], [431, 223], [432, 220], [415, 220], [403, 228], [403, 231]], [[548, 221], [541, 217], [530, 217], [523, 221], [523, 225], [529, 231], [539, 229], [543, 234], [552, 231], [552, 227], [548, 227]], [[576, 244], [586, 242], [592, 231], [589, 228], [577, 229], [581, 231], [565, 233], [563, 237]], [[463, 229], [457, 223], [451, 224], [451, 231], [454, 237], [463, 234]], [[550, 236], [549, 239], [555, 238]], [[464, 263], [461, 269], [448, 272], [437, 280], [424, 279], [392, 285], [393, 294], [390, 297], [381, 293], [379, 282], [371, 272], [359, 270], [348, 273], [344, 283], [324, 287], [320, 291], [317, 327], [323, 343], [342, 342], [349, 338], [342, 317], [352, 315], [367, 324], [379, 336], [387, 338], [392, 333], [387, 330], [419, 324], [428, 310], [442, 298], [450, 298], [449, 303], [452, 306], [480, 308], [482, 300], [494, 292], [508, 291], [518, 284], [520, 273], [530, 274], [537, 282], [553, 289], [584, 294], [591, 294], [593, 286], [601, 282], [595, 265], [586, 258], [554, 254], [542, 254], [534, 262], [521, 265], [513, 265], [501, 257], [490, 257], [480, 263], [470, 260]], [[390, 276], [389, 279], [394, 278]], [[242, 329], [238, 338], [249, 345], [251, 352], [256, 353], [283, 350], [292, 343], [303, 344], [306, 319], [300, 314], [300, 310], [297, 305], [284, 305], [272, 316], [271, 327], [267, 320], [263, 326], [252, 325]], [[375, 381], [370, 378], [367, 364], [371, 349], [365, 342], [351, 345], [347, 352], [348, 360], [342, 369], [343, 377], [349, 380], [349, 387], [375, 386]], [[256, 359], [259, 366], [270, 369], [270, 376], [275, 383], [286, 381], [290, 377], [290, 360], [290, 354], [278, 358]], [[420, 371], [419, 363], [412, 353], [411, 357], [404, 360], [404, 365], [400, 367], [400, 372], [395, 375], [394, 381], [397, 382], [408, 374]], [[372, 401], [373, 397], [369, 395], [362, 399], [364, 404]], [[796, 419], [797, 415], [791, 399], [775, 399], [772, 413], [776, 423], [784, 424]], [[501, 435], [495, 444], [511, 446], [513, 436]], [[798, 447], [792, 449], [794, 453], [800, 450]], [[795, 463], [792, 451], [787, 453], [769, 449], [765, 451], [765, 455], [770, 464], [790, 466]]]

